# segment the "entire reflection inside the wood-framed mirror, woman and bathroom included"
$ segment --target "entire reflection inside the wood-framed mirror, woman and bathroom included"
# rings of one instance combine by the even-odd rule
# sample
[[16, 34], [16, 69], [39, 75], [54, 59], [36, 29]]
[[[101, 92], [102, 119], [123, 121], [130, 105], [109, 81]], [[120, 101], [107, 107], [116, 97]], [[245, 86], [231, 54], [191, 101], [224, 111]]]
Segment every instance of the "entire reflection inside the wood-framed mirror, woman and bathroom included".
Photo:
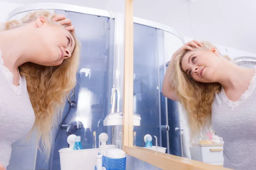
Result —
[[[207, 165], [254, 168], [256, 54], [254, 41], [249, 40], [255, 37], [251, 36], [255, 24], [244, 20], [253, 9], [249, 3], [233, 3], [230, 8], [230, 3], [218, 0], [211, 8], [209, 1], [200, 0], [134, 3], [135, 17], [175, 28], [188, 36], [184, 43], [189, 45], [171, 60], [183, 45], [176, 40], [179, 36], [170, 34], [166, 42], [164, 28], [146, 23], [137, 26], [134, 20], [134, 113], [141, 116], [140, 126], [134, 127], [134, 145], [156, 150], [158, 144], [165, 153]], [[230, 16], [223, 20], [223, 14], [212, 6], [225, 7]], [[244, 17], [237, 15], [239, 6], [250, 9], [244, 10]], [[233, 18], [253, 29], [241, 31]], [[195, 37], [210, 42], [197, 47], [202, 42], [191, 42]]]

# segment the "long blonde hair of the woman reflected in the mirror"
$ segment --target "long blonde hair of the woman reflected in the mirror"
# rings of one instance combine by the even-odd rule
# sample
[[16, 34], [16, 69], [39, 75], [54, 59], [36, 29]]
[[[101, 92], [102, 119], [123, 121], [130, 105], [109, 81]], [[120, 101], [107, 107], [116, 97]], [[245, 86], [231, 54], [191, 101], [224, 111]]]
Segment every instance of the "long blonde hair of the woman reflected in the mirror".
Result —
[[[194, 50], [209, 50], [210, 48], [217, 50], [215, 45], [210, 42], [202, 43], [203, 48], [192, 48]], [[182, 51], [175, 58], [175, 64], [171, 66], [173, 68], [170, 81], [172, 81], [172, 89], [176, 90], [177, 97], [186, 113], [191, 142], [196, 142], [211, 128], [212, 102], [215, 94], [221, 91], [221, 84], [198, 82], [188, 76], [181, 68], [181, 61], [187, 52], [189, 51]], [[223, 57], [230, 60], [227, 56]]]

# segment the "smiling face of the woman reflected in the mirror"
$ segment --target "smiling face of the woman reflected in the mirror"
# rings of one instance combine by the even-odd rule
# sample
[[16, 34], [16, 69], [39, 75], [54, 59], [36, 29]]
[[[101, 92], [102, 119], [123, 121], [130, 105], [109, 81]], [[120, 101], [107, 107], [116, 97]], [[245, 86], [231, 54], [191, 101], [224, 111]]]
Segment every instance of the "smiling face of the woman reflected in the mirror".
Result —
[[211, 48], [187, 52], [181, 61], [181, 67], [198, 82], [216, 82], [220, 63], [218, 51]]

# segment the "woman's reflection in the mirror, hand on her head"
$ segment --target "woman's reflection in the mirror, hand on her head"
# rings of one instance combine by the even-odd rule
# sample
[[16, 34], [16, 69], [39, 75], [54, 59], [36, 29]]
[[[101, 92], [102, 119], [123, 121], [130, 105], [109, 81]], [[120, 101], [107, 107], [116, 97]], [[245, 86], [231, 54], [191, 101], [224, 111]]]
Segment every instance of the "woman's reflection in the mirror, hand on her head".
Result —
[[[170, 81], [169, 81], [170, 80]], [[256, 167], [256, 71], [222, 56], [209, 42], [193, 40], [173, 54], [163, 94], [185, 108], [191, 137], [215, 130], [224, 140], [224, 167]]]

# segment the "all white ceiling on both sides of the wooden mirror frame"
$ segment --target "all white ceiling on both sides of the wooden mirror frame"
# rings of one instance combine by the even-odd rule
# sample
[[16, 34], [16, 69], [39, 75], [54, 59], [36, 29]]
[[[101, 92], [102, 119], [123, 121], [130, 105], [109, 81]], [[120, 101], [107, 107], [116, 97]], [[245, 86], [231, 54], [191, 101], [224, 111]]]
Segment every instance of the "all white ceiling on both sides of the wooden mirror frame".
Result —
[[[0, 0], [42, 3], [46, 0]], [[163, 23], [183, 36], [256, 53], [256, 0], [134, 0], [134, 16]], [[121, 0], [51, 0], [122, 11]], [[121, 3], [120, 3], [121, 2]]]

